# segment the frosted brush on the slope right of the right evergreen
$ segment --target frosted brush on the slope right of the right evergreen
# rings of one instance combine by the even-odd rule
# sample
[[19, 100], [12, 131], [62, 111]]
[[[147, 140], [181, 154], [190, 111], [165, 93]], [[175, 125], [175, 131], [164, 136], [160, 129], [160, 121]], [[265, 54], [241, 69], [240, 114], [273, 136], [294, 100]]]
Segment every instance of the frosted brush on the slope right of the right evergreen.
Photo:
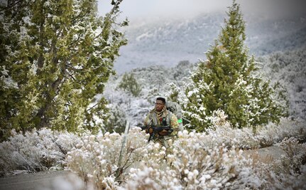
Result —
[[275, 52], [259, 59], [271, 81], [288, 92], [290, 115], [306, 119], [306, 48]]

